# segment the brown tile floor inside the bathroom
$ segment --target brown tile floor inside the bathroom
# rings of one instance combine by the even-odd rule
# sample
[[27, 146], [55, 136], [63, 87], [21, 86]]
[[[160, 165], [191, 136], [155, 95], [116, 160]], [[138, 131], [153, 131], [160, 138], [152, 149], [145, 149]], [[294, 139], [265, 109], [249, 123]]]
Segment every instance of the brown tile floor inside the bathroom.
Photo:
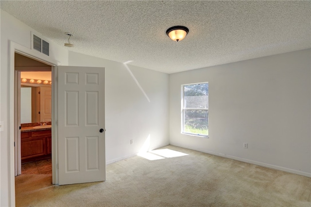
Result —
[[52, 159], [42, 159], [21, 165], [21, 174], [51, 174]]

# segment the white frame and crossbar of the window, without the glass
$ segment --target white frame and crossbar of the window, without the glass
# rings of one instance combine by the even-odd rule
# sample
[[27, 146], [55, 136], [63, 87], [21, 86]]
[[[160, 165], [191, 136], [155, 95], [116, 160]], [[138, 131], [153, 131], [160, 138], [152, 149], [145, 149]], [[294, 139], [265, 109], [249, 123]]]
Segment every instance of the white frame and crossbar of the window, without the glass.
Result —
[[[208, 82], [200, 82], [200, 83], [191, 83], [191, 84], [181, 85], [181, 134], [209, 138], [209, 136], [206, 134], [195, 134], [195, 133], [185, 132], [185, 111], [186, 110], [198, 110], [198, 111], [207, 111], [208, 112], [208, 108], [187, 108], [187, 107], [185, 107], [184, 106], [184, 88], [187, 85], [197, 85], [197, 84], [206, 84], [206, 83], [208, 84]], [[208, 99], [207, 99], [207, 103], [208, 103]], [[209, 116], [207, 117], [207, 122], [209, 122]], [[209, 129], [209, 127], [207, 127], [207, 130], [208, 129]]]

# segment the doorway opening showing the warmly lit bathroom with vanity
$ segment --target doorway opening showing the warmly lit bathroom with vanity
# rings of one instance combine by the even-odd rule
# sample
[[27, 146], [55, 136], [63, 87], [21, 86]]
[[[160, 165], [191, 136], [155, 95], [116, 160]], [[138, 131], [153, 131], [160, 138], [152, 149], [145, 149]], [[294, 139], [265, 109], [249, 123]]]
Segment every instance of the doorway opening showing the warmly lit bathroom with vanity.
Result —
[[15, 74], [15, 175], [52, 177], [52, 66], [15, 53]]

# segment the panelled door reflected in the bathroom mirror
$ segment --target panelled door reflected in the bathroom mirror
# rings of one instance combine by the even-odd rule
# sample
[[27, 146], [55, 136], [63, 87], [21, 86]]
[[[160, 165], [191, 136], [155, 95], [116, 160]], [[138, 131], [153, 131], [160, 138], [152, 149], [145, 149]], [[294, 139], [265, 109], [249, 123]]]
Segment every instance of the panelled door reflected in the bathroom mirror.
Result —
[[51, 122], [52, 88], [40, 87], [40, 122]]

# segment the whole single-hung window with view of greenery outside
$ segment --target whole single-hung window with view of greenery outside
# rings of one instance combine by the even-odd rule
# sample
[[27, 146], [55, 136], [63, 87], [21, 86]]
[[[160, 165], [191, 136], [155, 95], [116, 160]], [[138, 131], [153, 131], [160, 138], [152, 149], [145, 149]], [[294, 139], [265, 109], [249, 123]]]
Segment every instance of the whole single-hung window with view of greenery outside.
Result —
[[182, 133], [208, 137], [208, 83], [182, 86]]

